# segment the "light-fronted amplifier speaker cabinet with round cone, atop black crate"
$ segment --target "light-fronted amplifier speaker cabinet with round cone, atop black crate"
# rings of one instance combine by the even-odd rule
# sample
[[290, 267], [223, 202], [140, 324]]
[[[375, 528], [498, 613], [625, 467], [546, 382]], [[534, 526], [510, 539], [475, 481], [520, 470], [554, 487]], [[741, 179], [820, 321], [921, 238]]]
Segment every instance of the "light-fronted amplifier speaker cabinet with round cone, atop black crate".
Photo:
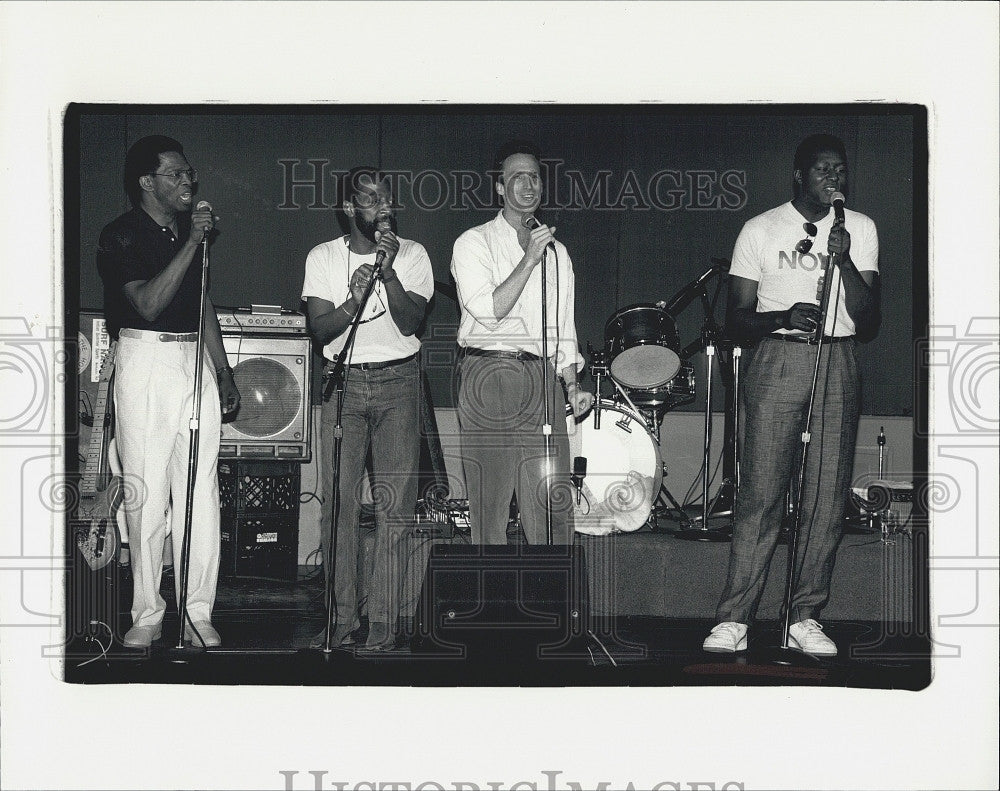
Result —
[[312, 348], [305, 335], [223, 334], [240, 408], [222, 423], [222, 459], [309, 461]]

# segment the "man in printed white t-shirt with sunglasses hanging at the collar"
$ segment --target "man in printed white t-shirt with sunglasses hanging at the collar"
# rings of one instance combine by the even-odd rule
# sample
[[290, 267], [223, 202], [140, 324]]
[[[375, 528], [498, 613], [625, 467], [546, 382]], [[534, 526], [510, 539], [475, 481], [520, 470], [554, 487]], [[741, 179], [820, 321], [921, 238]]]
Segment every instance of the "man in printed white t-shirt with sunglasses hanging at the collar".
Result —
[[[728, 330], [760, 341], [744, 377], [743, 465], [729, 572], [706, 651], [747, 647], [781, 530], [785, 493], [798, 469], [821, 312], [822, 278], [832, 277], [802, 496], [789, 645], [816, 656], [837, 646], [816, 621], [830, 593], [845, 498], [854, 464], [860, 383], [855, 333], [879, 321], [875, 223], [843, 210], [844, 144], [812, 135], [793, 161], [795, 197], [743, 226], [729, 273]], [[831, 205], [834, 202], [836, 208]], [[834, 265], [826, 267], [832, 259]]]

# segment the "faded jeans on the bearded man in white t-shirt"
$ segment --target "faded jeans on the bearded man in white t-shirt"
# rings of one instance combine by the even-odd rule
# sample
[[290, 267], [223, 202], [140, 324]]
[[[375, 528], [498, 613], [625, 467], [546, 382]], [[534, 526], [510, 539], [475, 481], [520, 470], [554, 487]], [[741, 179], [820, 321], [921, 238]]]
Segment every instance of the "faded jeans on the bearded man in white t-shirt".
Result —
[[[328, 366], [330, 364], [328, 363]], [[365, 460], [371, 450], [375, 547], [368, 586], [368, 619], [393, 628], [399, 615], [399, 539], [411, 527], [420, 461], [420, 366], [417, 359], [380, 370], [352, 368], [347, 377], [340, 453], [340, 518], [334, 547], [334, 598], [338, 626], [358, 623], [358, 520]], [[337, 396], [323, 404], [324, 553], [333, 525], [334, 427]], [[326, 555], [324, 554], [324, 560]], [[324, 568], [328, 565], [324, 562]], [[327, 572], [329, 573], [329, 572]]]

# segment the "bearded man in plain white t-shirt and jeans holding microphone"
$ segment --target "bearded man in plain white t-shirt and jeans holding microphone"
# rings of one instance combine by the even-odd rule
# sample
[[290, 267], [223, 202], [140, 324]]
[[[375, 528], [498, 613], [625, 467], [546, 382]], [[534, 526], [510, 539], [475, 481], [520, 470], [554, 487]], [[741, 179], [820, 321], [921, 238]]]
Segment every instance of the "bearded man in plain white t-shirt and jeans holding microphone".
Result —
[[[380, 651], [395, 644], [399, 616], [396, 553], [401, 532], [413, 521], [420, 462], [420, 340], [415, 333], [434, 294], [434, 273], [426, 250], [396, 235], [388, 177], [357, 167], [342, 180], [349, 233], [317, 245], [306, 258], [302, 299], [309, 331], [327, 359], [324, 391], [334, 361], [344, 346], [365, 290], [381, 265], [378, 282], [361, 315], [353, 347], [347, 352], [343, 444], [340, 454], [340, 515], [333, 528], [334, 429], [337, 398], [323, 404], [321, 459], [324, 551], [334, 541], [334, 647], [350, 643], [358, 618], [358, 520], [371, 449], [375, 498], [375, 548], [368, 593], [365, 648]], [[324, 558], [326, 555], [324, 555]], [[326, 568], [326, 564], [324, 564]], [[327, 569], [329, 582], [330, 570]], [[325, 629], [312, 645], [324, 643]]]

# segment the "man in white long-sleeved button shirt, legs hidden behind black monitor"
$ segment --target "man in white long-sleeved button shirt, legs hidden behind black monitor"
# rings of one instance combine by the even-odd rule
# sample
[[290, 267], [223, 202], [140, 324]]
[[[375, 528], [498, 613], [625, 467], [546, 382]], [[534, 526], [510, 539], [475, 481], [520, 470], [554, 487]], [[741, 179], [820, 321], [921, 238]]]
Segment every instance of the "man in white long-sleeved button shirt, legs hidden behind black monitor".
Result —
[[[566, 403], [579, 416], [594, 400], [577, 382], [583, 357], [576, 339], [573, 262], [553, 236], [555, 229], [534, 221], [542, 200], [534, 147], [508, 143], [498, 152], [493, 172], [503, 208], [458, 238], [451, 262], [462, 306], [458, 418], [472, 535], [476, 543], [505, 544], [516, 493], [528, 542], [546, 542], [548, 500], [553, 542], [567, 544], [573, 532], [572, 498], [556, 485], [569, 486]], [[543, 256], [548, 360], [542, 359]], [[546, 365], [548, 393], [543, 389]], [[545, 398], [553, 438], [549, 475], [542, 433]]]

